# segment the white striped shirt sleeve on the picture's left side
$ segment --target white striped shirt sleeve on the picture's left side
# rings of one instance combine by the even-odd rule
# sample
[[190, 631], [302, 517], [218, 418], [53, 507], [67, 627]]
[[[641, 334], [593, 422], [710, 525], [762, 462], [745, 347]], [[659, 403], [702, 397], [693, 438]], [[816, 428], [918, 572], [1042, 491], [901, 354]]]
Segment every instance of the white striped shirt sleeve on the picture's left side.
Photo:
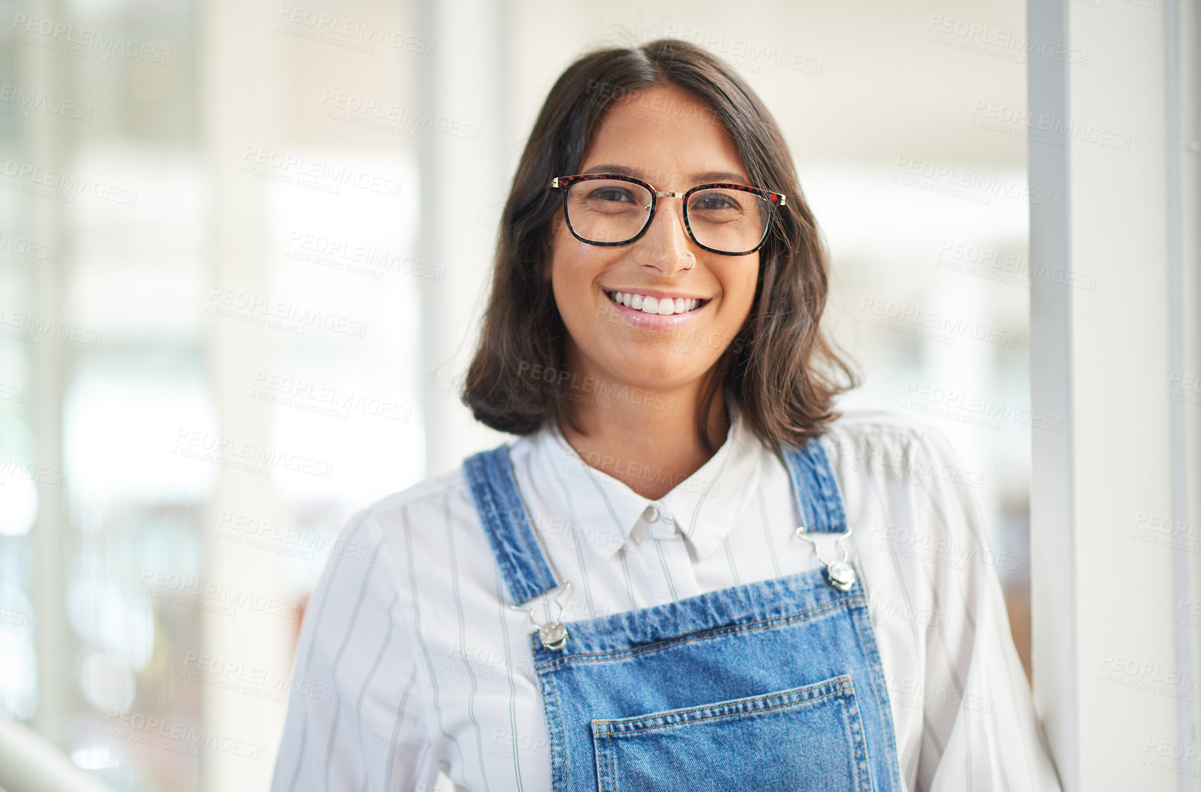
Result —
[[422, 684], [404, 605], [378, 520], [360, 511], [305, 608], [271, 792], [414, 788]]

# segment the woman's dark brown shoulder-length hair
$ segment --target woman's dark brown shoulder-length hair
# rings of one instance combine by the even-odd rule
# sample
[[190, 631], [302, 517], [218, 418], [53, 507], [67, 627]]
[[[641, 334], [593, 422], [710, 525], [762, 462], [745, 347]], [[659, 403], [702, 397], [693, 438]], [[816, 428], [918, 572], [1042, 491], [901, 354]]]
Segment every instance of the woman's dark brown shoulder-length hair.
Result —
[[826, 251], [801, 194], [788, 145], [753, 90], [721, 60], [688, 42], [587, 53], [560, 76], [530, 133], [501, 215], [491, 295], [462, 401], [476, 419], [512, 434], [548, 419], [572, 421], [569, 402], [540, 377], [562, 372], [566, 328], [542, 276], [551, 256], [561, 193], [555, 176], [576, 173], [592, 131], [614, 101], [651, 86], [688, 91], [734, 139], [755, 187], [788, 197], [759, 250], [754, 301], [701, 391], [697, 434], [710, 452], [706, 416], [717, 394], [733, 400], [769, 446], [802, 448], [838, 416], [835, 396], [859, 384], [819, 329], [827, 290]]

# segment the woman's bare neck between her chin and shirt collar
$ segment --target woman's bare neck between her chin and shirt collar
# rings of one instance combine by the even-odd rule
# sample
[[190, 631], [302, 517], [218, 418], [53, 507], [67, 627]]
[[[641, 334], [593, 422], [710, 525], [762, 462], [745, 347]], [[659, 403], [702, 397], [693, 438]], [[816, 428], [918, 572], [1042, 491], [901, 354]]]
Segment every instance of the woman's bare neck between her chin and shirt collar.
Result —
[[[593, 379], [603, 388], [596, 388], [588, 398], [568, 402], [581, 431], [560, 424], [563, 438], [588, 466], [644, 498], [658, 500], [712, 457], [697, 437], [700, 395], [707, 377], [673, 389]], [[584, 376], [574, 379], [582, 380]], [[729, 431], [721, 388], [705, 427], [710, 443], [719, 448]]]

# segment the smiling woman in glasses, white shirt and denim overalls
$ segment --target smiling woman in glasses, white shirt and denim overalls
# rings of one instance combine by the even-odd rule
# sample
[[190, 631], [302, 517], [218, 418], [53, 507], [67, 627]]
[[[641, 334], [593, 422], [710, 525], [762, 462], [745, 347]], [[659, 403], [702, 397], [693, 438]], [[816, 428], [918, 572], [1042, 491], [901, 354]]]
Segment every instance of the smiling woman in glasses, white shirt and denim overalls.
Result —
[[273, 788], [1057, 790], [974, 494], [831, 410], [825, 295], [731, 70], [574, 62], [464, 389], [520, 437], [343, 529], [374, 552], [313, 592]]

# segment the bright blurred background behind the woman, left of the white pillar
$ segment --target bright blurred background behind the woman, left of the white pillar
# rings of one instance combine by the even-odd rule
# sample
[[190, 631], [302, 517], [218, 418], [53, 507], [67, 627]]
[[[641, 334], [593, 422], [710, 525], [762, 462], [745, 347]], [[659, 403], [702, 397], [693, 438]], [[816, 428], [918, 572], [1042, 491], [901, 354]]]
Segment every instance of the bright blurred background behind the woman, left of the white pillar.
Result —
[[865, 374], [842, 406], [950, 437], [1029, 668], [1030, 437], [1062, 418], [1028, 409], [1056, 272], [1022, 2], [29, 0], [0, 29], [0, 709], [76, 766], [268, 787], [339, 529], [506, 439], [458, 383], [546, 91], [664, 36], [776, 115]]

